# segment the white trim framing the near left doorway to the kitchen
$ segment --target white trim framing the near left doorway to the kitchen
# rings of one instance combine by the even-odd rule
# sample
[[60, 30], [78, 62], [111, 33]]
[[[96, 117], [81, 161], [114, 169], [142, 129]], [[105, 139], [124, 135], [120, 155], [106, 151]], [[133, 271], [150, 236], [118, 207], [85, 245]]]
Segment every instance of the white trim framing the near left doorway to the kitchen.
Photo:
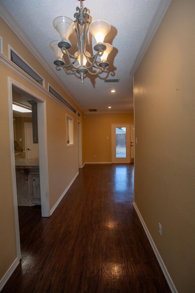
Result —
[[47, 129], [46, 129], [46, 100], [27, 87], [23, 86], [16, 80], [8, 77], [9, 88], [9, 129], [10, 129], [10, 149], [11, 149], [11, 168], [12, 168], [12, 189], [14, 201], [15, 227], [16, 227], [16, 246], [17, 255], [21, 258], [20, 240], [19, 240], [19, 222], [18, 222], [18, 206], [17, 206], [17, 189], [16, 189], [16, 171], [14, 156], [14, 139], [13, 139], [13, 111], [12, 111], [12, 85], [17, 86], [21, 90], [31, 94], [40, 102], [37, 102], [38, 115], [38, 139], [39, 139], [39, 172], [40, 172], [40, 188], [41, 188], [41, 215], [42, 217], [50, 216], [49, 208], [49, 186], [48, 186], [48, 162], [47, 162]]

